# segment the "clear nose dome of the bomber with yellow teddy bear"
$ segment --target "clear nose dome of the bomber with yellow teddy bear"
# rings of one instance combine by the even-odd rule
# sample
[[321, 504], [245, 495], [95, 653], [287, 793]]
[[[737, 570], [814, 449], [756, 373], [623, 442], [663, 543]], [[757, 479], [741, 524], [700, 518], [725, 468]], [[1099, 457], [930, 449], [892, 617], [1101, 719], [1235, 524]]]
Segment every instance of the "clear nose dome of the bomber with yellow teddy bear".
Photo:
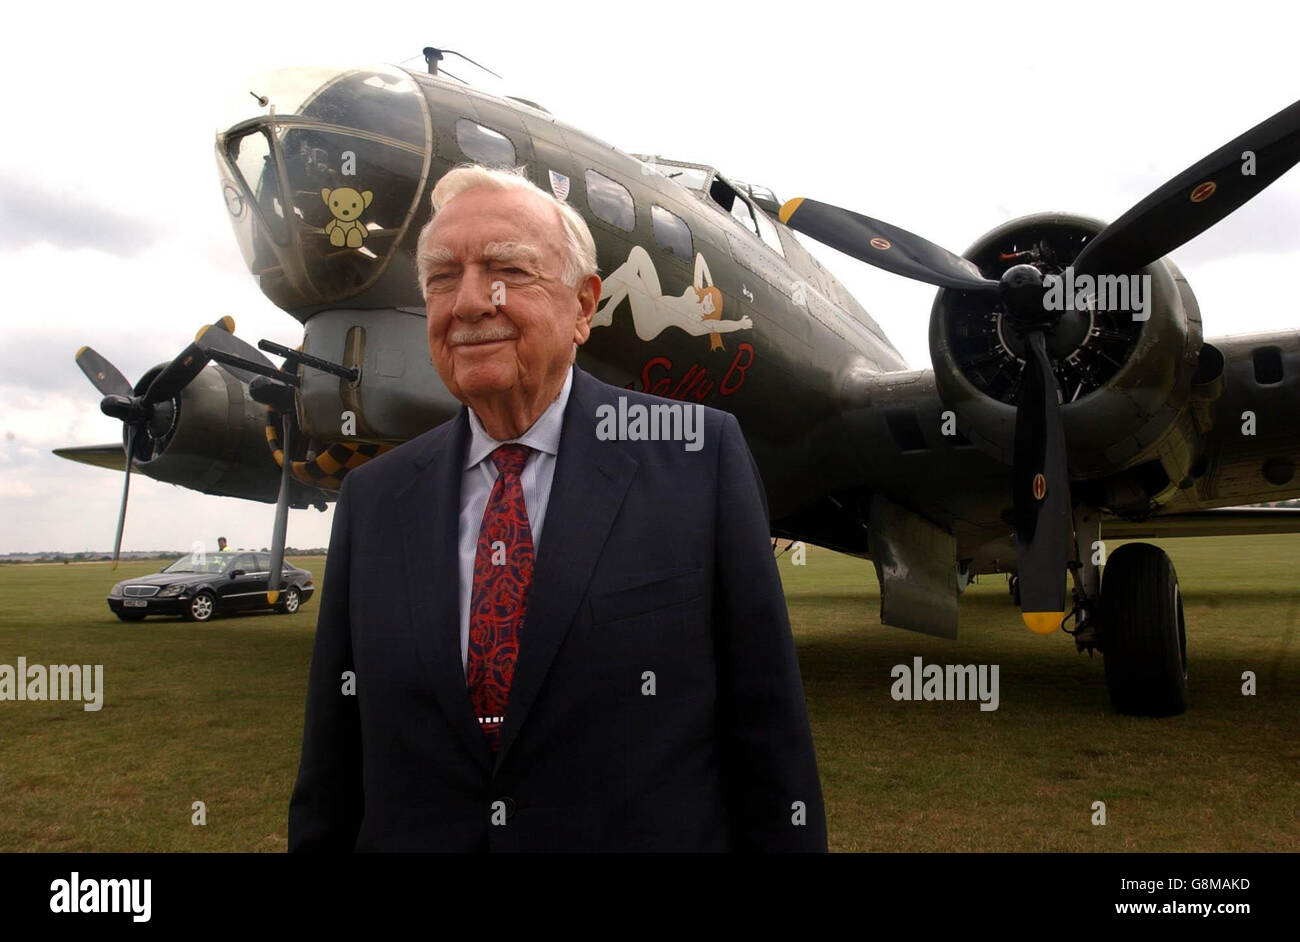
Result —
[[428, 105], [403, 70], [286, 69], [250, 83], [255, 117], [217, 135], [244, 262], [285, 311], [355, 295], [384, 273], [419, 209]]

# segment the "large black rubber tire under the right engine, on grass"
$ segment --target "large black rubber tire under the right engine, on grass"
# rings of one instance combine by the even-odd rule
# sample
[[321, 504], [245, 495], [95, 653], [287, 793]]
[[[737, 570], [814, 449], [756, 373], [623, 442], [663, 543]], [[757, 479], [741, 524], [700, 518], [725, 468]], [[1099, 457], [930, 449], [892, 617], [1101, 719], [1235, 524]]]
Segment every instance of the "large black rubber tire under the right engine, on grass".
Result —
[[1110, 554], [1101, 583], [1101, 652], [1110, 703], [1128, 716], [1187, 709], [1187, 626], [1178, 574], [1150, 543]]

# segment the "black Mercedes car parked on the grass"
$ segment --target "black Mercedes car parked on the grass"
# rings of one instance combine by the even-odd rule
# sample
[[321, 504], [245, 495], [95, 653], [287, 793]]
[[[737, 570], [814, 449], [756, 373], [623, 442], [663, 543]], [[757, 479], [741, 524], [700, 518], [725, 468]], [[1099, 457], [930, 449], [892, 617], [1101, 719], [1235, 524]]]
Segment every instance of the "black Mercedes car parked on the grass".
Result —
[[285, 560], [280, 598], [266, 602], [269, 552], [209, 552], [182, 556], [156, 576], [124, 579], [108, 594], [108, 607], [122, 621], [147, 615], [181, 615], [208, 621], [226, 612], [274, 608], [292, 615], [316, 591], [312, 574]]

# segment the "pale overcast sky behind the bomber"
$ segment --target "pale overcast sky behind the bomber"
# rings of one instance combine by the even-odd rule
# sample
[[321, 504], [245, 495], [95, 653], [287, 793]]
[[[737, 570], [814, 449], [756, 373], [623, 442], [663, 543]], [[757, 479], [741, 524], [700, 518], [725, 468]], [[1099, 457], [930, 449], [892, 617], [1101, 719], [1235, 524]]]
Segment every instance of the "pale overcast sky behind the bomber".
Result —
[[[120, 476], [51, 453], [121, 440], [79, 346], [134, 382], [221, 314], [250, 340], [300, 339], [243, 266], [214, 170], [213, 134], [252, 114], [257, 73], [422, 68], [421, 47], [459, 49], [506, 77], [481, 87], [624, 151], [710, 162], [958, 252], [1024, 213], [1114, 218], [1300, 97], [1297, 17], [1266, 3], [29, 3], [6, 26], [0, 552], [112, 544]], [[928, 366], [933, 290], [815, 251]], [[1208, 337], [1294, 329], [1300, 174], [1174, 259]], [[218, 533], [260, 547], [272, 517], [135, 476], [124, 547]], [[295, 511], [289, 542], [325, 544], [329, 518]]]

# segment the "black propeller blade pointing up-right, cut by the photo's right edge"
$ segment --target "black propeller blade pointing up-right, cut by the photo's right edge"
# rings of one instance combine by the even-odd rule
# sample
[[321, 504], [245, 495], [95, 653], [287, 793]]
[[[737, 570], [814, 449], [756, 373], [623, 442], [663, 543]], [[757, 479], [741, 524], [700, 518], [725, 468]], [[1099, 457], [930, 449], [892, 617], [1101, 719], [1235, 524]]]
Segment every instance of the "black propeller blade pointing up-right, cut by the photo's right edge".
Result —
[[[1249, 162], [1248, 152], [1253, 155]], [[1134, 205], [1084, 246], [1074, 269], [1080, 274], [1136, 272], [1236, 210], [1297, 161], [1300, 101], [1192, 164]]]

